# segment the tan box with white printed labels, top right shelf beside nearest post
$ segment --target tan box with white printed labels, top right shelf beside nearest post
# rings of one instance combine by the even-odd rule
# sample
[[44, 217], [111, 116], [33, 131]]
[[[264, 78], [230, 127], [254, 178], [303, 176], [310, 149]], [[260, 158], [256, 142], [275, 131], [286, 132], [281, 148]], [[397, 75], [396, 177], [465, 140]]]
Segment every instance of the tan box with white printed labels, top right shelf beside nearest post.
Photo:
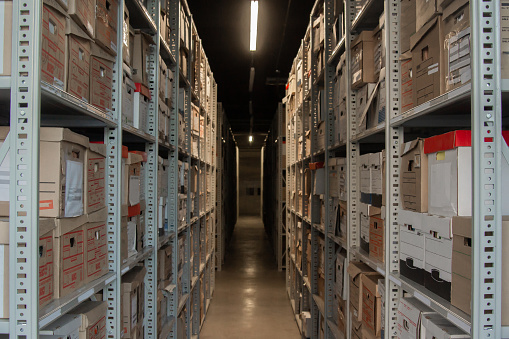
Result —
[[470, 6], [469, 0], [455, 0], [443, 9], [445, 92], [470, 82]]

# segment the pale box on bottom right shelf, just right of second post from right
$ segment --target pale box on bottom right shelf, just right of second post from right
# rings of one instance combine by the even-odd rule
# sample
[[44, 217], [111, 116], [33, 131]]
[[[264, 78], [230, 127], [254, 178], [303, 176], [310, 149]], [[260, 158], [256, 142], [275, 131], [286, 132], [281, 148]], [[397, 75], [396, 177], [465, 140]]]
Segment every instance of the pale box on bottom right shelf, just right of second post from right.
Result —
[[398, 304], [398, 338], [420, 339], [421, 321], [426, 315], [435, 314], [415, 298], [400, 298]]

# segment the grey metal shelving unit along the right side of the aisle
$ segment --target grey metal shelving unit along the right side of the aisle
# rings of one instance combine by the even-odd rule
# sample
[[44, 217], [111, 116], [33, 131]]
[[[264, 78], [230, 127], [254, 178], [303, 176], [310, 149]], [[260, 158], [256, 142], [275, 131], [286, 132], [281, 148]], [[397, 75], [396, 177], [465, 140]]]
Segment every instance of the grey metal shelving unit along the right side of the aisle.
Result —
[[[289, 76], [290, 90], [284, 98], [286, 111], [287, 141], [287, 291], [295, 318], [304, 337], [302, 312], [310, 312], [307, 321], [312, 322], [312, 333], [308, 337], [317, 338], [320, 327], [324, 328], [325, 338], [350, 338], [351, 322], [349, 302], [346, 300], [345, 333], [339, 330], [332, 312], [334, 292], [334, 272], [332, 267], [335, 253], [346, 250], [347, 261], [360, 260], [385, 277], [385, 337], [397, 335], [397, 309], [403, 293], [412, 295], [431, 307], [435, 312], [450, 320], [458, 328], [470, 333], [473, 338], [507, 338], [509, 330], [501, 325], [501, 153], [502, 94], [507, 90], [507, 80], [500, 75], [500, 3], [496, 1], [471, 2], [471, 65], [472, 81], [452, 91], [442, 94], [428, 102], [403, 112], [400, 107], [400, 11], [399, 0], [371, 1], [362, 3], [354, 0], [343, 1], [343, 36], [333, 37], [335, 1], [317, 0], [310, 16], [310, 27], [303, 39]], [[341, 2], [340, 2], [341, 3]], [[336, 4], [337, 5], [337, 4]], [[318, 69], [316, 60], [314, 24], [323, 13], [325, 41], [323, 69]], [[359, 102], [351, 87], [352, 69], [350, 65], [352, 41], [362, 30], [374, 29], [383, 15], [385, 27], [385, 70], [386, 70], [386, 118], [385, 121], [365, 131], [358, 132], [357, 108]], [[333, 42], [337, 43], [333, 45]], [[306, 64], [308, 48], [315, 48], [311, 54], [311, 65]], [[334, 123], [333, 77], [336, 66], [344, 56], [346, 63], [346, 140], [335, 140], [337, 126]], [[302, 62], [304, 74], [296, 75], [297, 65]], [[309, 72], [309, 73], [307, 73]], [[311, 79], [306, 78], [310, 74]], [[293, 78], [302, 79], [302, 99], [292, 93]], [[308, 88], [309, 84], [309, 88]], [[297, 85], [299, 86], [299, 84]], [[317, 111], [318, 91], [325, 92]], [[340, 98], [341, 99], [341, 98]], [[309, 120], [309, 116], [311, 119]], [[325, 151], [317, 147], [316, 136], [318, 116], [326, 124]], [[337, 118], [337, 117], [336, 117]], [[504, 120], [505, 122], [505, 120]], [[505, 122], [507, 125], [507, 122]], [[400, 208], [400, 160], [399, 150], [405, 138], [428, 137], [440, 134], [437, 131], [453, 129], [472, 130], [473, 163], [473, 272], [472, 277], [472, 316], [451, 306], [450, 302], [438, 297], [399, 273], [399, 225]], [[435, 129], [435, 130], [434, 130]], [[306, 133], [308, 137], [306, 138]], [[299, 142], [300, 141], [300, 142]], [[310, 147], [308, 143], [311, 143]], [[310, 151], [306, 151], [309, 147]], [[385, 260], [374, 260], [361, 249], [359, 203], [361, 154], [373, 151], [386, 152], [385, 187], [387, 202], [385, 208]], [[347, 227], [346, 237], [334, 234], [335, 216], [332, 215], [336, 200], [329, 196], [329, 160], [346, 157], [347, 168]], [[493, 161], [494, 160], [494, 161]], [[326, 169], [323, 199], [324, 222], [318, 222], [320, 205], [315, 196], [310, 204], [304, 193], [305, 170], [310, 163], [323, 162]], [[311, 171], [313, 172], [313, 171]], [[313, 190], [313, 174], [311, 176]], [[495, 183], [495, 184], [493, 184]], [[318, 213], [318, 214], [317, 214]], [[308, 241], [308, 234], [310, 240]], [[498, 235], [498, 237], [497, 237]], [[321, 242], [323, 245], [320, 245]], [[307, 248], [311, 245], [311, 251]], [[323, 247], [322, 247], [323, 246]], [[323, 251], [320, 252], [319, 251]], [[311, 254], [309, 260], [308, 254]], [[324, 258], [323, 272], [318, 272], [318, 257]], [[311, 269], [308, 272], [308, 261]], [[499, 268], [498, 270], [496, 268]], [[323, 274], [323, 277], [320, 275]], [[320, 279], [318, 277], [320, 276]], [[323, 279], [323, 280], [322, 280]], [[324, 286], [322, 286], [324, 284]], [[347, 284], [348, 285], [348, 284]], [[324, 298], [317, 293], [318, 287], [324, 290]], [[345, 286], [346, 295], [349, 295]], [[325, 326], [320, 326], [324, 317]]]

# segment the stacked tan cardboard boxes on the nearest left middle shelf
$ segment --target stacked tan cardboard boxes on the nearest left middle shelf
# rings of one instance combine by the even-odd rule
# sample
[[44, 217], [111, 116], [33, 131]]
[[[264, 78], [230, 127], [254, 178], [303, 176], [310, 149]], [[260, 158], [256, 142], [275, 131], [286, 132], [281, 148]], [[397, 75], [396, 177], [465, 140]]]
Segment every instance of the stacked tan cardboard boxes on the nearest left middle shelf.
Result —
[[[0, 129], [7, 138], [9, 127]], [[104, 145], [64, 128], [40, 129], [39, 305], [44, 307], [108, 272]], [[9, 155], [0, 164], [9, 178]], [[8, 179], [7, 179], [8, 182]], [[0, 251], [9, 279], [9, 184], [0, 194]], [[7, 284], [8, 286], [8, 284]], [[8, 318], [8, 288], [2, 318]]]

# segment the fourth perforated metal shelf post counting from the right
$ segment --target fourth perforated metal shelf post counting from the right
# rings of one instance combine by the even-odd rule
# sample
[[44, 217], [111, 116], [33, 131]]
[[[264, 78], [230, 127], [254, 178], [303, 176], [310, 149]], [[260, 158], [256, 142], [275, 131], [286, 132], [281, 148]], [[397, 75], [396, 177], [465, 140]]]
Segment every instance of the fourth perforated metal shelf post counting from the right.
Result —
[[[335, 294], [334, 283], [334, 267], [336, 262], [336, 243], [330, 237], [334, 234], [333, 216], [334, 203], [338, 203], [331, 198], [329, 190], [329, 160], [334, 157], [334, 153], [329, 151], [329, 146], [334, 145], [334, 68], [327, 60], [329, 60], [334, 47], [332, 46], [333, 27], [334, 27], [334, 3], [335, 0], [325, 0], [325, 68], [324, 68], [324, 87], [325, 87], [325, 314], [324, 319], [333, 318], [333, 304]], [[324, 107], [322, 104], [320, 107]], [[331, 328], [326, 325], [325, 338], [334, 338]]]

